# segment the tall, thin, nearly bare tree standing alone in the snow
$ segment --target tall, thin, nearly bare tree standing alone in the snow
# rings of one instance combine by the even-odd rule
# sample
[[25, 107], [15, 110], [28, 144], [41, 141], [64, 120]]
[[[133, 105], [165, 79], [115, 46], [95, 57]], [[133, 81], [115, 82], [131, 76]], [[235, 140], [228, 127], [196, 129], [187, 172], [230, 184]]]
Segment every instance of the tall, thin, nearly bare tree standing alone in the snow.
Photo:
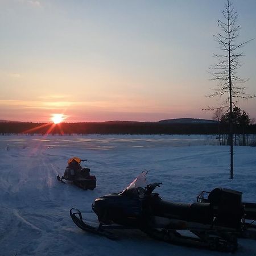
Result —
[[237, 69], [241, 67], [241, 57], [244, 56], [241, 48], [245, 42], [238, 43], [240, 26], [237, 25], [237, 12], [234, 11], [233, 4], [226, 0], [225, 9], [222, 11], [222, 20], [218, 20], [220, 32], [214, 35], [214, 40], [219, 44], [221, 53], [214, 54], [217, 63], [210, 66], [212, 79], [218, 82], [214, 93], [209, 96], [225, 97], [224, 102], [230, 113], [229, 119], [229, 143], [230, 143], [230, 179], [234, 178], [233, 164], [233, 105], [236, 106], [239, 98], [253, 98], [245, 93], [245, 83], [247, 80], [241, 79], [237, 75]]

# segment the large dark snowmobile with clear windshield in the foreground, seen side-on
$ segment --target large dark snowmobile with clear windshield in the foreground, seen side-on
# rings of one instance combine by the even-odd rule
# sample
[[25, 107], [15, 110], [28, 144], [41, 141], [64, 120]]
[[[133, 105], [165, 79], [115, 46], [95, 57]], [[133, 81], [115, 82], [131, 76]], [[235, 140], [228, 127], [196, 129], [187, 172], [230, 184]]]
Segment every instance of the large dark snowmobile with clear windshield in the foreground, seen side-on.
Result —
[[219, 251], [236, 251], [238, 237], [256, 238], [256, 204], [242, 203], [241, 192], [216, 188], [203, 191], [196, 203], [172, 203], [153, 193], [162, 183], [146, 185], [146, 174], [142, 172], [122, 192], [94, 201], [98, 228], [86, 224], [75, 208], [70, 210], [73, 222], [87, 232], [113, 239], [110, 229], [140, 229], [158, 240]]

